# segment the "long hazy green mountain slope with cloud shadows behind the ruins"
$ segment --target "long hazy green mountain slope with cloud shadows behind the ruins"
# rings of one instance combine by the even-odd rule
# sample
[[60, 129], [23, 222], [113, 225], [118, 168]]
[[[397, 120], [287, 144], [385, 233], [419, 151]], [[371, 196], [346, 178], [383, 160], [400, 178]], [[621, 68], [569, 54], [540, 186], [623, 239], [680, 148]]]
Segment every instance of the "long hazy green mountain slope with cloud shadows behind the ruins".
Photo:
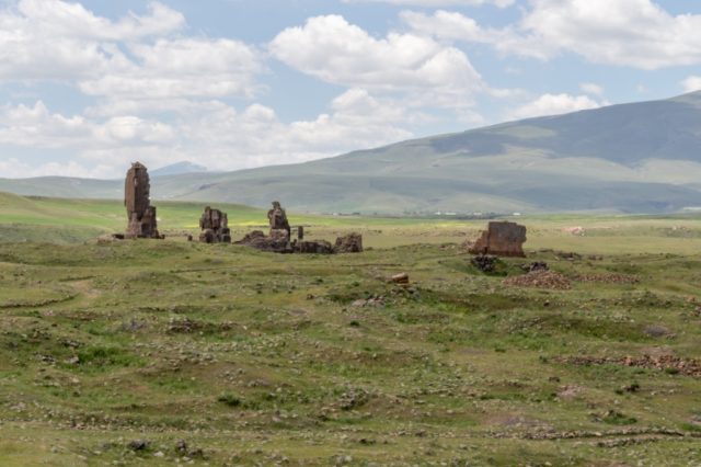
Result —
[[[152, 176], [157, 171], [151, 172]], [[674, 212], [701, 206], [701, 92], [529, 118], [307, 163], [157, 175], [154, 198], [311, 212]], [[0, 191], [120, 196], [120, 183], [0, 180]]]

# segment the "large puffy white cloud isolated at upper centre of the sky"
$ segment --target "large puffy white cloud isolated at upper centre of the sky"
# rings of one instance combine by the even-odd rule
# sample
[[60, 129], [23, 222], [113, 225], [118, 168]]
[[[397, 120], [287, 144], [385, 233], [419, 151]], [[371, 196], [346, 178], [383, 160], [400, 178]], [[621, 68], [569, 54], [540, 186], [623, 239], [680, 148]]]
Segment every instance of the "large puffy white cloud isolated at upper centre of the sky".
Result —
[[382, 91], [451, 95], [456, 104], [482, 90], [459, 49], [414, 34], [375, 38], [343, 16], [315, 16], [283, 31], [269, 45], [277, 59], [326, 82]]

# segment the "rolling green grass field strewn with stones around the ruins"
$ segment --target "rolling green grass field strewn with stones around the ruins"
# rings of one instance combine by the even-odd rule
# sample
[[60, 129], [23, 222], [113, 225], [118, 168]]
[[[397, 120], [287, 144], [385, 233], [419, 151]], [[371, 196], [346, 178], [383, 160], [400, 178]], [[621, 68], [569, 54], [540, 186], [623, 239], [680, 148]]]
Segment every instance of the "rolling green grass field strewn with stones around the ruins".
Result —
[[[701, 465], [699, 217], [522, 218], [484, 274], [484, 221], [289, 213], [371, 249], [277, 255], [157, 205], [166, 240], [97, 242], [118, 203], [0, 196], [0, 465]], [[504, 283], [531, 261], [572, 288]]]

